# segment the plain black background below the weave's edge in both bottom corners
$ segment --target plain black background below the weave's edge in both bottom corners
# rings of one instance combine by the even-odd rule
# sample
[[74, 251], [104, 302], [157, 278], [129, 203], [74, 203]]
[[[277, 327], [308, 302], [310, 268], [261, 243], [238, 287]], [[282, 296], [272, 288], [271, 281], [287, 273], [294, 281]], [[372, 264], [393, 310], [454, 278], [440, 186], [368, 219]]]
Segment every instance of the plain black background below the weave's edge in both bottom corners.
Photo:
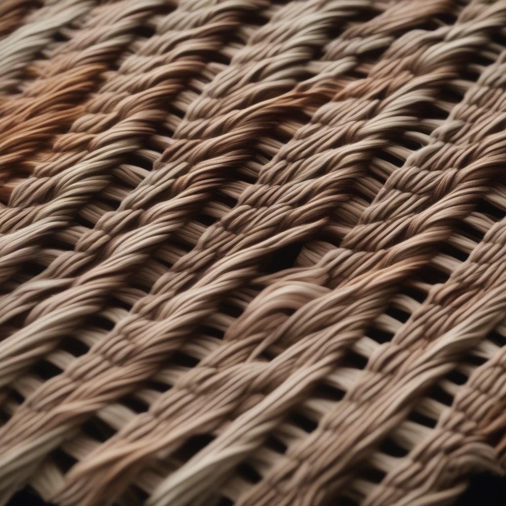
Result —
[[[18, 492], [8, 506], [52, 506], [31, 490]], [[506, 506], [506, 478], [479, 474], [472, 478], [468, 490], [454, 506]]]

